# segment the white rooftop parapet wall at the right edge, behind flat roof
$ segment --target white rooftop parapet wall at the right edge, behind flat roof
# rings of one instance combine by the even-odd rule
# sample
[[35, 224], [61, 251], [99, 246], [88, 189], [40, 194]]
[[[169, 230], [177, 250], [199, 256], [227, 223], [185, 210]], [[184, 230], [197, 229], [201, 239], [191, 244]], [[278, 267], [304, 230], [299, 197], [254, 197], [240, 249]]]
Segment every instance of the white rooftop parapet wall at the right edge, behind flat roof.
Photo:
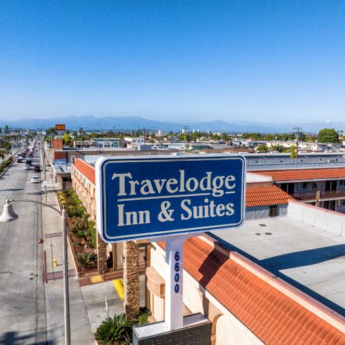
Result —
[[345, 215], [342, 213], [289, 200], [288, 217], [345, 237]]

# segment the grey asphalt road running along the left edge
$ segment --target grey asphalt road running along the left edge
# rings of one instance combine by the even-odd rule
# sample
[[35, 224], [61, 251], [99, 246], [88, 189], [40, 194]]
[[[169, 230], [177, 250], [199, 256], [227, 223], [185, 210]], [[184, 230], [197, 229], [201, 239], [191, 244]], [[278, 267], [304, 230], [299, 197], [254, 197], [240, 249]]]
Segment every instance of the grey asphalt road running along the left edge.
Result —
[[[32, 169], [39, 164], [39, 146]], [[0, 208], [6, 199], [41, 201], [39, 175], [12, 164], [0, 179]], [[46, 306], [43, 281], [41, 206], [15, 201], [19, 219], [0, 222], [0, 344], [46, 344]]]

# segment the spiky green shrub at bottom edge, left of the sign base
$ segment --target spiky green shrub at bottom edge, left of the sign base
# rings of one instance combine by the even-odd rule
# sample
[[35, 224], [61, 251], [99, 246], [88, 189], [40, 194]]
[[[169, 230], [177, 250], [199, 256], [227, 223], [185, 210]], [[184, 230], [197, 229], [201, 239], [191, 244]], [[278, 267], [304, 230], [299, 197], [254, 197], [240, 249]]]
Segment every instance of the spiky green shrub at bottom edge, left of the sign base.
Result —
[[126, 315], [119, 314], [108, 317], [97, 328], [95, 337], [101, 344], [131, 344], [132, 324]]

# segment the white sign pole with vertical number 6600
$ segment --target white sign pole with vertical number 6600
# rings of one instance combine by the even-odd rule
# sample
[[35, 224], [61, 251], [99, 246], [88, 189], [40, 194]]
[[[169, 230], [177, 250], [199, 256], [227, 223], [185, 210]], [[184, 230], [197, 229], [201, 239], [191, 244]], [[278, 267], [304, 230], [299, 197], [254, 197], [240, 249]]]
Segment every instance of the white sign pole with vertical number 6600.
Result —
[[170, 331], [184, 326], [184, 241], [190, 235], [166, 238], [166, 324]]

